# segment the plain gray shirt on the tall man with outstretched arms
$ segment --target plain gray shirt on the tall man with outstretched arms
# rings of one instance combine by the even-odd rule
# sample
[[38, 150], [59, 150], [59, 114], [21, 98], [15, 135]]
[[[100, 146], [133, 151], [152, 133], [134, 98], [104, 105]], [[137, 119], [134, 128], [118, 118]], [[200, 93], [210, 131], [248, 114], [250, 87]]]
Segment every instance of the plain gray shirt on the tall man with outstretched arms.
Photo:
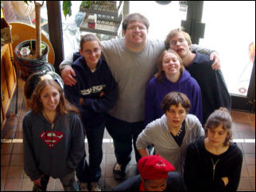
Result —
[[[164, 41], [148, 39], [142, 52], [128, 50], [124, 38], [105, 40], [102, 44], [103, 56], [118, 83], [118, 98], [108, 113], [130, 123], [144, 121], [145, 87], [157, 71], [157, 60], [165, 50]], [[194, 45], [192, 49], [195, 50]], [[60, 70], [71, 64], [72, 56], [68, 56], [60, 63]]]

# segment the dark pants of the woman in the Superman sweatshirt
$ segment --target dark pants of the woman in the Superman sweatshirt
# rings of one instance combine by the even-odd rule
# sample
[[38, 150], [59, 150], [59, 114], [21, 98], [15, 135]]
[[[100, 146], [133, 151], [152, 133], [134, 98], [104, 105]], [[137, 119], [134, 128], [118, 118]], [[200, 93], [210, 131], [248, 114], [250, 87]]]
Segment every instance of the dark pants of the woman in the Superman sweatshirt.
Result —
[[[50, 177], [48, 175], [44, 175], [44, 177], [41, 178], [41, 186], [33, 185], [33, 191], [46, 191], [49, 179]], [[75, 170], [64, 176], [64, 178], [60, 178], [60, 182], [64, 191], [80, 191], [75, 179]]]

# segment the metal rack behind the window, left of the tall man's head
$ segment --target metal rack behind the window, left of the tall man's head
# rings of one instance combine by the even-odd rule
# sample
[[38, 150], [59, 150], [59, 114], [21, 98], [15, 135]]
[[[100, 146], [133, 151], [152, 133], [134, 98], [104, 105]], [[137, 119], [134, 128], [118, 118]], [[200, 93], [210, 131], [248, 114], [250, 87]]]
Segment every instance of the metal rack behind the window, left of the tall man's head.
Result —
[[[81, 4], [80, 12], [86, 13], [80, 31], [110, 36], [122, 35], [123, 1], [91, 1]], [[90, 16], [96, 17], [95, 25], [90, 25]]]

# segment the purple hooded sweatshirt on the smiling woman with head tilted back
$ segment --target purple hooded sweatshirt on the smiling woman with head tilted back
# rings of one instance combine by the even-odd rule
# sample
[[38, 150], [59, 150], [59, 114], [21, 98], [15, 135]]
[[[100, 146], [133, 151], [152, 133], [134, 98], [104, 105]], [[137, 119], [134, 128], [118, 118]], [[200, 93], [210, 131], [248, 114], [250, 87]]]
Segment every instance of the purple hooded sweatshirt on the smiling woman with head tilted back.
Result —
[[189, 113], [196, 115], [202, 123], [200, 86], [188, 71], [184, 70], [179, 81], [176, 83], [170, 82], [169, 79], [166, 79], [165, 75], [163, 75], [161, 82], [154, 77], [150, 79], [145, 92], [145, 125], [163, 115], [161, 101], [165, 98], [166, 94], [172, 91], [178, 91], [187, 95], [191, 102]]

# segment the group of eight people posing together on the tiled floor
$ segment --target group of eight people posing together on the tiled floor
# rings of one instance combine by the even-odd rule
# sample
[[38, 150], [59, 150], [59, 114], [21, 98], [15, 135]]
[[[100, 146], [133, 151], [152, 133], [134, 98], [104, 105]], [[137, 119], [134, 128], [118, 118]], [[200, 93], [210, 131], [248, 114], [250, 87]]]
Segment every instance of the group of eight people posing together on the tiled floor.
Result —
[[[124, 179], [134, 146], [140, 176], [126, 186], [236, 190], [242, 152], [231, 142], [231, 99], [217, 54], [191, 44], [182, 29], [165, 42], [149, 40], [149, 21], [139, 13], [124, 18], [122, 31], [123, 38], [103, 42], [92, 34], [81, 37], [80, 52], [60, 63], [64, 90], [54, 80], [34, 90], [23, 121], [25, 172], [33, 190], [46, 190], [49, 176], [59, 178], [64, 190], [100, 190], [105, 127], [114, 141], [114, 179]], [[149, 156], [149, 146], [159, 156]], [[159, 165], [157, 160], [164, 173], [148, 177], [145, 162]], [[126, 187], [113, 190], [121, 189]]]

